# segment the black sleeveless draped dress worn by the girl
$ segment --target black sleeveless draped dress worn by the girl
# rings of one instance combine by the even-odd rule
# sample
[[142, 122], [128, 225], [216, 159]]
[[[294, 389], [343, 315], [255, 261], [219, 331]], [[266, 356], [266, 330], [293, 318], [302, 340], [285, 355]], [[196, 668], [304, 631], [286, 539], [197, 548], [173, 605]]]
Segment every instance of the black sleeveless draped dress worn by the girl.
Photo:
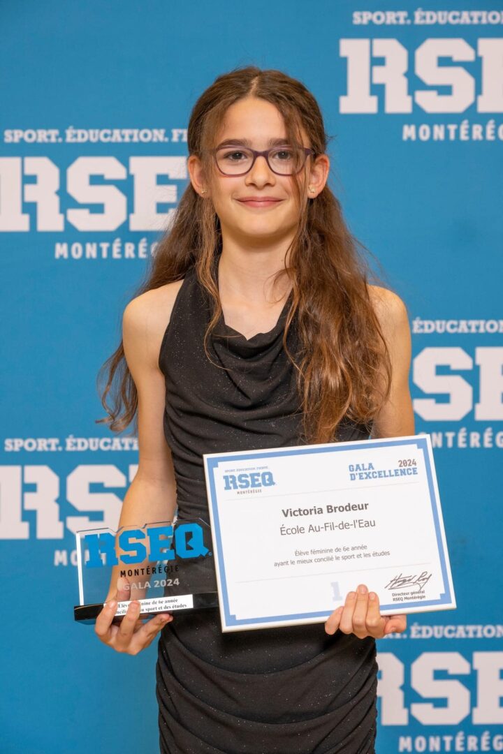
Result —
[[[182, 282], [159, 355], [179, 520], [210, 521], [203, 453], [302, 444], [282, 344], [290, 297], [276, 326], [249, 340], [221, 316], [209, 360], [210, 299], [193, 268]], [[296, 338], [290, 326], [292, 354]], [[339, 440], [368, 435], [346, 423]], [[328, 636], [323, 623], [222, 633], [217, 608], [175, 614], [158, 644], [161, 752], [372, 754], [376, 673], [373, 639]]]

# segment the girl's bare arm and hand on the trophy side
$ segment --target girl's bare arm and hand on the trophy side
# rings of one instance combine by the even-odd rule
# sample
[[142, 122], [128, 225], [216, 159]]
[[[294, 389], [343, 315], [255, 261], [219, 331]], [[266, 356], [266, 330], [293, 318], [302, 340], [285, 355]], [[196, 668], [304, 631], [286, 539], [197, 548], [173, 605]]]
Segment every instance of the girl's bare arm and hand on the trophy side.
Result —
[[[119, 527], [170, 521], [176, 510], [173, 461], [163, 430], [164, 375], [158, 367], [158, 357], [180, 284], [178, 281], [148, 291], [133, 299], [124, 311], [124, 354], [138, 393], [139, 464], [124, 497]], [[161, 613], [143, 623], [139, 619], [140, 603], [133, 600], [121, 624], [112, 624], [117, 602], [130, 599], [127, 579], [119, 579], [118, 571], [118, 566], [112, 570], [107, 604], [97, 618], [95, 631], [102, 642], [116, 651], [137, 654], [173, 617]]]

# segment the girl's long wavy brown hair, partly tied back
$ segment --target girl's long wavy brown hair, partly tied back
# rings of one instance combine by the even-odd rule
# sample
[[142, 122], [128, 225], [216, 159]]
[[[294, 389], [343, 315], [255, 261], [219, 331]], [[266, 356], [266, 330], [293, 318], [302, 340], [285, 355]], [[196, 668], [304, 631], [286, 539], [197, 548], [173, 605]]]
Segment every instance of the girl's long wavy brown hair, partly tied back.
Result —
[[[316, 155], [327, 150], [328, 137], [319, 106], [306, 87], [276, 70], [255, 66], [221, 75], [201, 94], [189, 120], [189, 154], [203, 164], [207, 185], [214, 167], [211, 150], [225, 111], [244, 97], [274, 104], [284, 118], [289, 143], [302, 143], [301, 128]], [[314, 159], [309, 158], [309, 159]], [[284, 328], [284, 348], [296, 368], [303, 440], [327, 443], [337, 439], [341, 421], [370, 427], [388, 396], [391, 365], [379, 320], [370, 300], [370, 268], [364, 250], [345, 225], [337, 198], [326, 185], [314, 199], [305, 196], [305, 176], [294, 180], [299, 224], [289, 248], [288, 266], [278, 272], [292, 280], [293, 297]], [[216, 325], [222, 307], [213, 262], [222, 250], [222, 236], [213, 203], [189, 183], [170, 229], [161, 238], [146, 283], [136, 296], [175, 280], [194, 267], [214, 302], [204, 336]], [[300, 350], [293, 357], [287, 333], [296, 315]], [[102, 403], [112, 431], [122, 431], [136, 417], [136, 387], [121, 345], [100, 369], [108, 370]], [[111, 392], [112, 406], [106, 402]]]

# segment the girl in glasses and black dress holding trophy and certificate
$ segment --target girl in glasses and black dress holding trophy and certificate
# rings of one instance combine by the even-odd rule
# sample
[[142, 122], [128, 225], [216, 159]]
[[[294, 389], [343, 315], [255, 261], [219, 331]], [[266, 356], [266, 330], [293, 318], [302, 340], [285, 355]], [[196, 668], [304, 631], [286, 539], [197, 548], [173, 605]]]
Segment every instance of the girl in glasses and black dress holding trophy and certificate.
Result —
[[[219, 76], [195, 104], [189, 186], [107, 362], [107, 421], [137, 412], [140, 444], [121, 526], [209, 521], [203, 453], [413, 434], [406, 310], [367, 283], [326, 147], [316, 100], [279, 71]], [[96, 632], [136, 654], [162, 629], [163, 754], [374, 751], [375, 639], [406, 618], [364, 584], [325, 624], [225, 634], [217, 609], [143, 623], [137, 601], [116, 626], [127, 586]]]

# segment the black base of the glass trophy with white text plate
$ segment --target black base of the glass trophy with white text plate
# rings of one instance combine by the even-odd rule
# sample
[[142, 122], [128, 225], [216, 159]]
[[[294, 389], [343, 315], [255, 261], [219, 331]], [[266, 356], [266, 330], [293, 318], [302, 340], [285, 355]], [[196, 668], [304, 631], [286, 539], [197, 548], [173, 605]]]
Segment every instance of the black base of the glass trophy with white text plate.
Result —
[[[218, 607], [218, 593], [204, 592], [201, 594], [177, 594], [174, 596], [152, 597], [140, 599], [140, 618], [147, 615], [156, 615], [159, 612], [189, 612], [192, 610], [204, 610], [205, 608]], [[94, 605], [75, 605], [73, 615], [79, 623], [93, 624], [103, 610], [103, 602]], [[130, 600], [119, 602], [115, 613], [114, 623], [126, 615]]]

